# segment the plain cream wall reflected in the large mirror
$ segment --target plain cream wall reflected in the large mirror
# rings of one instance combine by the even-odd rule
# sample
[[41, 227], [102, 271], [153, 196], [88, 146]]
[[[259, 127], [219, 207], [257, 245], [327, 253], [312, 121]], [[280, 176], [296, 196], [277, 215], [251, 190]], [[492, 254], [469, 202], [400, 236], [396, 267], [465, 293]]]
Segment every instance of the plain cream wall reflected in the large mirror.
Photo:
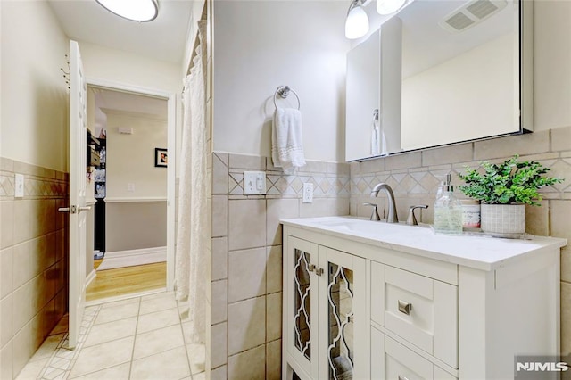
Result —
[[402, 148], [516, 132], [519, 78], [512, 46], [513, 36], [499, 37], [404, 79]]

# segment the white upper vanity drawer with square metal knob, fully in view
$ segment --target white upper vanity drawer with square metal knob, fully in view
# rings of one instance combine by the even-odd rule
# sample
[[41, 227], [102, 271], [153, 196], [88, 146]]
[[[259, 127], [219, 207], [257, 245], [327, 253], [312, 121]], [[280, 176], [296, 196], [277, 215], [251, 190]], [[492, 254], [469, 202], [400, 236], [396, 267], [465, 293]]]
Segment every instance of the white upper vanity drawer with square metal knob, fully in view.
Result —
[[458, 287], [371, 263], [371, 319], [458, 368]]

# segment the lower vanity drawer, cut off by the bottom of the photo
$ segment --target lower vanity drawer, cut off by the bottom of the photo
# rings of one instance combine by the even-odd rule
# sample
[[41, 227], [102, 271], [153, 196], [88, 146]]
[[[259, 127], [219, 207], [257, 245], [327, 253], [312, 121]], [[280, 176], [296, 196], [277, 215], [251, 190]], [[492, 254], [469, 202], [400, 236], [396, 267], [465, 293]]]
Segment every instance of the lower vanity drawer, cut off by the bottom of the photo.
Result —
[[455, 380], [442, 368], [371, 328], [371, 378], [386, 380]]

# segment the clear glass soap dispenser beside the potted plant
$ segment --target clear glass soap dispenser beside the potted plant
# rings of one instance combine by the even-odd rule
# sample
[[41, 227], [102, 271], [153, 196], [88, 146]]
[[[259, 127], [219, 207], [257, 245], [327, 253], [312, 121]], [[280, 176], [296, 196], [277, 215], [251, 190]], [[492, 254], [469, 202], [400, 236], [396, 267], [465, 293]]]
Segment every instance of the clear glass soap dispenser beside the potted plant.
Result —
[[454, 196], [451, 175], [441, 185], [434, 202], [434, 232], [442, 235], [462, 235], [462, 204]]

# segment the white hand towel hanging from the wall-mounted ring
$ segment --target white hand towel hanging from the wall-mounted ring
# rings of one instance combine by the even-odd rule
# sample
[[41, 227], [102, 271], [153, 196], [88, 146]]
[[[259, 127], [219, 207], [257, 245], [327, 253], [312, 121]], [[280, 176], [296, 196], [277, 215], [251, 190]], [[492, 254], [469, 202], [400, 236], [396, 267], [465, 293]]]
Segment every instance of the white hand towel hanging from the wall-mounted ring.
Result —
[[302, 113], [294, 108], [276, 108], [271, 131], [271, 158], [274, 166], [294, 174], [305, 165], [302, 141]]

